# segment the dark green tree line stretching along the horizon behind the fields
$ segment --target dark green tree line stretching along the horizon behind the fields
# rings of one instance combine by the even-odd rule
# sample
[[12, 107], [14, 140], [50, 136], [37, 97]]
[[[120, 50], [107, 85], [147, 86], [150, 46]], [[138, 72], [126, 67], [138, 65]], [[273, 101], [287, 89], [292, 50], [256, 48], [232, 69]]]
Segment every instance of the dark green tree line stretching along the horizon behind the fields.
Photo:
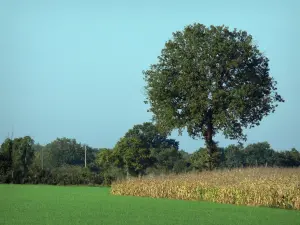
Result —
[[193, 153], [180, 150], [178, 141], [167, 138], [150, 122], [133, 126], [112, 149], [84, 146], [69, 138], [57, 138], [45, 146], [35, 144], [29, 136], [7, 138], [0, 149], [0, 182], [110, 185], [128, 176], [187, 173], [210, 166], [300, 166], [299, 151], [275, 151], [268, 142], [225, 148], [215, 143], [212, 155], [210, 160], [205, 147]]

